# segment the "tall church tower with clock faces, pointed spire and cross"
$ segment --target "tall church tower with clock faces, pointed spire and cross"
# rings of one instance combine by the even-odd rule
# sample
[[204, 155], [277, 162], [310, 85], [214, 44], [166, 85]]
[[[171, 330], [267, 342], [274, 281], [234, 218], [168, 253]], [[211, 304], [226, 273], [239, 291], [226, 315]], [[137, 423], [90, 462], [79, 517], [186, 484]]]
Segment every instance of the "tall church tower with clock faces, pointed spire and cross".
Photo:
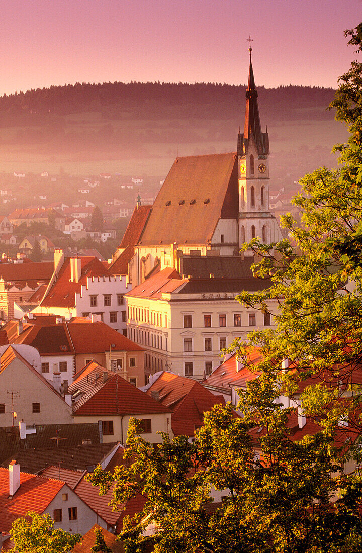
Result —
[[269, 135], [261, 132], [251, 50], [250, 47], [244, 133], [238, 134], [240, 246], [252, 238], [259, 238], [264, 243], [281, 239], [279, 225], [270, 213]]

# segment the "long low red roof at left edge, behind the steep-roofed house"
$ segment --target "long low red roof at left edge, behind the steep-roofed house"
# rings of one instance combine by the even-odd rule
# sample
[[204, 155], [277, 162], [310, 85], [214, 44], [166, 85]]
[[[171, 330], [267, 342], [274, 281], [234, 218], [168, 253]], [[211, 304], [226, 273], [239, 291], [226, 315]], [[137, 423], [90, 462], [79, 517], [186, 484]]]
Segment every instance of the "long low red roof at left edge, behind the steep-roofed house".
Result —
[[49, 282], [54, 272], [54, 262], [0, 263], [0, 278], [7, 282], [36, 286], [40, 281]]

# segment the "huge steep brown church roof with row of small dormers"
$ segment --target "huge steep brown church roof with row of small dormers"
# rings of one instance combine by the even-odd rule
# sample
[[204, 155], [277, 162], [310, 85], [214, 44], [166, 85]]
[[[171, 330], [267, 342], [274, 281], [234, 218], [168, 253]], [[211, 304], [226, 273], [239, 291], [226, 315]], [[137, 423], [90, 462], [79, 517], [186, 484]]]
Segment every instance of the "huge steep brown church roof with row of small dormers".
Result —
[[146, 222], [138, 246], [205, 244], [219, 218], [238, 218], [236, 153], [177, 158]]

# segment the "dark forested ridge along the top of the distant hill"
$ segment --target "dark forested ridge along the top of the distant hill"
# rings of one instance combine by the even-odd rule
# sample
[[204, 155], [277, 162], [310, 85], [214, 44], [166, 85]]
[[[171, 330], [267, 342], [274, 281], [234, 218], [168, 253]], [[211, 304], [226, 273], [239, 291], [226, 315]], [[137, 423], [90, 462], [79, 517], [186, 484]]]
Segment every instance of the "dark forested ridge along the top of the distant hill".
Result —
[[[1, 96], [0, 125], [39, 124], [49, 116], [83, 112], [101, 112], [105, 119], [240, 119], [245, 87], [106, 82], [38, 88]], [[333, 117], [326, 110], [334, 95], [332, 88], [260, 86], [258, 92], [260, 109], [262, 114], [267, 114], [267, 121]]]

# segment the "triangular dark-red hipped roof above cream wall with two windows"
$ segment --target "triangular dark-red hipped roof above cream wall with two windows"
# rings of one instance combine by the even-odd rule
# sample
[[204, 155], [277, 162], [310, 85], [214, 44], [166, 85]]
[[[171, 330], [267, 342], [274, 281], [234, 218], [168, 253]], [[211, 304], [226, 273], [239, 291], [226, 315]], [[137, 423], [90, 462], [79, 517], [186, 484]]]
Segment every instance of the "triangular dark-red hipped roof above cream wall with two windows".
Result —
[[[87, 395], [82, 405], [75, 410], [74, 415], [140, 415], [170, 413], [170, 409], [141, 392], [133, 384], [124, 380], [119, 374], [114, 374], [102, 382], [93, 395]], [[70, 387], [74, 388], [74, 383]], [[92, 392], [90, 392], [92, 394]]]

